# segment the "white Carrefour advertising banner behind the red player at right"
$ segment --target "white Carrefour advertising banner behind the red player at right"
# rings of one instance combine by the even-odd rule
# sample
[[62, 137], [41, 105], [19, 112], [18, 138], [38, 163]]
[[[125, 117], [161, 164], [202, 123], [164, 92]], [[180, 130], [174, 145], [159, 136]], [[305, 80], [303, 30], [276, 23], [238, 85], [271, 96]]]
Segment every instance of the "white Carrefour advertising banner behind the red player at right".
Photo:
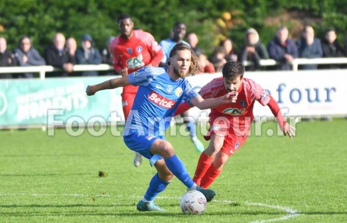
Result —
[[[213, 78], [221, 76], [221, 73], [197, 75], [190, 81], [199, 90]], [[346, 69], [245, 72], [244, 77], [262, 86], [278, 102], [285, 116], [347, 115]], [[256, 116], [273, 116], [267, 106], [258, 102], [255, 102], [253, 111]], [[190, 111], [194, 117], [200, 113], [196, 108]]]

